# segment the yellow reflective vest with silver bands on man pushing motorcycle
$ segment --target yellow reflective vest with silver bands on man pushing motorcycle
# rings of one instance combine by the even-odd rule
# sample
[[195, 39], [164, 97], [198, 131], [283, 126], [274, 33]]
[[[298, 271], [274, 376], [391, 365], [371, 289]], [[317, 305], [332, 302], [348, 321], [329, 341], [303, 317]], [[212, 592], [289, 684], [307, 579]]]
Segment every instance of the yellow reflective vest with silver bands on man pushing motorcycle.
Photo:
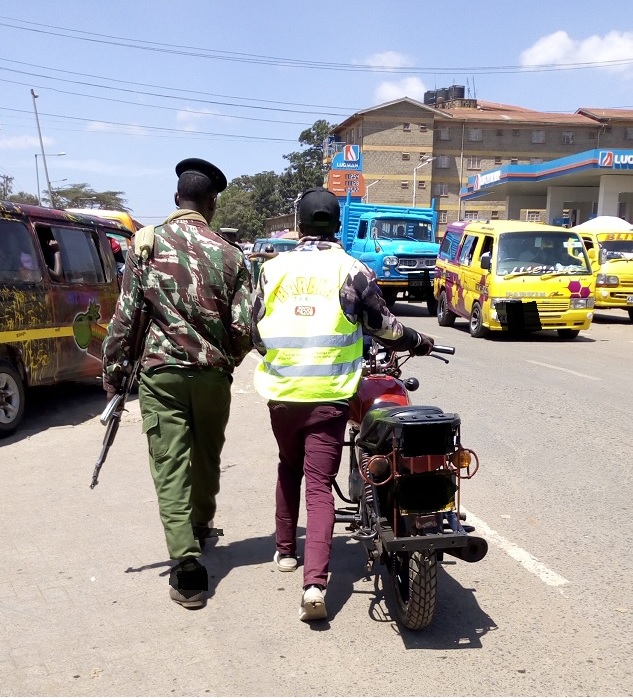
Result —
[[254, 377], [260, 395], [323, 402], [356, 392], [363, 331], [345, 317], [339, 296], [354, 262], [332, 247], [286, 252], [265, 263], [266, 314], [257, 328], [266, 355]]

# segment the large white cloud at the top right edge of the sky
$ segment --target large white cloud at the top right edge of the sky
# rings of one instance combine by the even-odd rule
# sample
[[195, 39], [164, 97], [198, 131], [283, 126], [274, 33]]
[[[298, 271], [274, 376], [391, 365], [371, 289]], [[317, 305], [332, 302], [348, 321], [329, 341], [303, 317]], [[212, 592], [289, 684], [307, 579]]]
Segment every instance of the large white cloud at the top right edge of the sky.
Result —
[[[521, 65], [563, 65], [565, 63], [603, 63], [606, 61], [633, 61], [633, 32], [612, 31], [604, 36], [572, 39], [560, 30], [541, 37], [521, 54]], [[608, 66], [609, 70], [631, 70], [633, 65]]]

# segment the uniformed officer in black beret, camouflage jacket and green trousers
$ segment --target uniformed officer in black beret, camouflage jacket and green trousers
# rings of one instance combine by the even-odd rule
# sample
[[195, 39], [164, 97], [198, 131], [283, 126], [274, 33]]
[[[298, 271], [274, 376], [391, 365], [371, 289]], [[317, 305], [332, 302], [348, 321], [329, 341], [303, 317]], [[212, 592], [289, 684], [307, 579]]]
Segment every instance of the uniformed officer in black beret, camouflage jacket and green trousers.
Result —
[[200, 607], [208, 577], [198, 558], [214, 527], [232, 373], [252, 347], [252, 288], [241, 251], [209, 228], [226, 177], [198, 158], [178, 163], [176, 174], [179, 208], [155, 228], [149, 260], [139, 261], [132, 249], [126, 255], [103, 345], [104, 388], [110, 398], [120, 384], [142, 297], [150, 325], [139, 403], [167, 550], [176, 561], [169, 593]]

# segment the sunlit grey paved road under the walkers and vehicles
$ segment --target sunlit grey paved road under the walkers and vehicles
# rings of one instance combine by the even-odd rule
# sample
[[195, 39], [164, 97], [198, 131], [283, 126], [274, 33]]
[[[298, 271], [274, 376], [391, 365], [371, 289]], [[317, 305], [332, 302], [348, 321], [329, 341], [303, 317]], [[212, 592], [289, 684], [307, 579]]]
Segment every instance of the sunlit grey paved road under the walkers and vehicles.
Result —
[[[427, 631], [392, 620], [385, 579], [366, 578], [337, 527], [328, 622], [298, 620], [300, 573], [271, 558], [275, 444], [236, 374], [206, 608], [169, 601], [168, 561], [138, 405], [99, 486], [93, 385], [33, 396], [0, 447], [2, 695], [630, 695], [633, 325], [599, 314], [579, 340], [474, 340], [400, 304], [453, 344], [416, 358], [413, 395], [460, 413], [482, 461], [463, 503], [490, 552], [440, 571]], [[340, 478], [344, 483], [344, 476]]]

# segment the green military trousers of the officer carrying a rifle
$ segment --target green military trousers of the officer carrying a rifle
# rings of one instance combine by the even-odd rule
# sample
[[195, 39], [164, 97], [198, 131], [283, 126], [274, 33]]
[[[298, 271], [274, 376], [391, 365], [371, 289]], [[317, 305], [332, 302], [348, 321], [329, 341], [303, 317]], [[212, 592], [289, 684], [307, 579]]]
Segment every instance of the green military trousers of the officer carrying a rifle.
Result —
[[142, 372], [139, 403], [169, 556], [199, 557], [192, 524], [215, 516], [231, 378], [211, 368]]

